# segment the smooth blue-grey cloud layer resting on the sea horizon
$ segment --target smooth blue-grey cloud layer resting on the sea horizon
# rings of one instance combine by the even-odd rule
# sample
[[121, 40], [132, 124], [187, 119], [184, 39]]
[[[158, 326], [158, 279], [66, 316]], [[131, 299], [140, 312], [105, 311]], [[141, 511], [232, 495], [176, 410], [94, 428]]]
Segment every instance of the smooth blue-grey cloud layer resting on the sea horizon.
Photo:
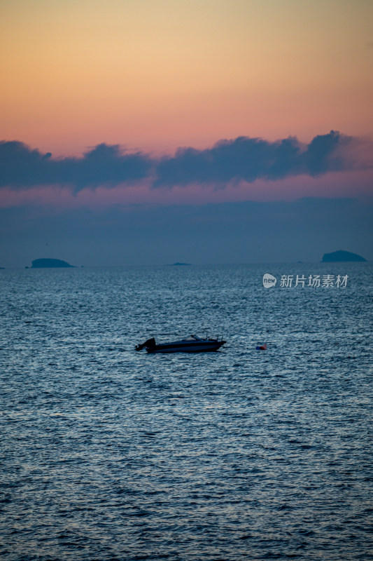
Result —
[[372, 224], [373, 205], [351, 198], [134, 205], [125, 213], [118, 205], [52, 214], [26, 205], [0, 209], [0, 265], [38, 257], [85, 266], [319, 262], [339, 249], [373, 259]]

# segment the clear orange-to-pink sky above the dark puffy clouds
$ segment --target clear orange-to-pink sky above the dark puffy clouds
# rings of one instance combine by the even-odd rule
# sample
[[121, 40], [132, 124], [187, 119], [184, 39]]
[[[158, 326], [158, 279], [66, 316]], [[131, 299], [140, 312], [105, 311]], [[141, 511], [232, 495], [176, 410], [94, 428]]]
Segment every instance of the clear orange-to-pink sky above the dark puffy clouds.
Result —
[[56, 156], [373, 133], [368, 0], [0, 4], [1, 139]]

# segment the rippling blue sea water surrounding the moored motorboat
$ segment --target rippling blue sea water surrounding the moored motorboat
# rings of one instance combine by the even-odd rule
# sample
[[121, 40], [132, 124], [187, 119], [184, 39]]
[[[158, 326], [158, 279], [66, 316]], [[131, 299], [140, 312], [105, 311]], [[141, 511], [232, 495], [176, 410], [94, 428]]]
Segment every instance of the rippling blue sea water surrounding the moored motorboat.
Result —
[[[348, 280], [280, 286], [297, 274]], [[373, 558], [372, 281], [370, 263], [0, 271], [1, 560]], [[206, 332], [227, 344], [134, 351]]]

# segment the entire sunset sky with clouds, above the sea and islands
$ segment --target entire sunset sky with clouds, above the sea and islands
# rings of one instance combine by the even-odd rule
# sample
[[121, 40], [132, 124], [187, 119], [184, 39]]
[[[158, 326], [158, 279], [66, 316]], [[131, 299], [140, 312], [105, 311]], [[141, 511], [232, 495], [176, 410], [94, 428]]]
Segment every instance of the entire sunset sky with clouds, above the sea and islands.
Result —
[[368, 0], [0, 0], [0, 266], [373, 259]]

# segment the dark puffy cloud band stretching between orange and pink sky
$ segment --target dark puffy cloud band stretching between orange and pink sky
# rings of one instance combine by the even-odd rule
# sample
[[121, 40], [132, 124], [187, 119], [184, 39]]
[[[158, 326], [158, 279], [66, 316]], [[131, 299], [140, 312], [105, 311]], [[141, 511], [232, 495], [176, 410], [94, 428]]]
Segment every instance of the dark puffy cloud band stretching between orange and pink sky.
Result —
[[4, 141], [0, 142], [0, 187], [68, 184], [77, 192], [138, 180], [151, 180], [154, 188], [171, 188], [191, 183], [224, 187], [232, 181], [281, 180], [302, 174], [314, 177], [372, 167], [356, 159], [363, 144], [363, 140], [332, 130], [309, 144], [296, 137], [276, 142], [238, 137], [221, 140], [209, 149], [178, 149], [174, 156], [163, 158], [122, 151], [118, 144], [98, 144], [80, 158], [52, 158], [22, 142]]

